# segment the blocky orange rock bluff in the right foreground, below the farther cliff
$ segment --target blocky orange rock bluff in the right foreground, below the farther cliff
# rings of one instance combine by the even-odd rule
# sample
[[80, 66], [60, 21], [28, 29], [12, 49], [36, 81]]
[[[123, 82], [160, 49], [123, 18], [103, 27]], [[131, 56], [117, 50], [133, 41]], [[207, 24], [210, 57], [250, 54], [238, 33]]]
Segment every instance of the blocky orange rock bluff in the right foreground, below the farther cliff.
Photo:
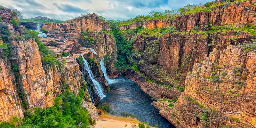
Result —
[[173, 108], [159, 113], [180, 128], [255, 127], [255, 65], [255, 52], [233, 45], [214, 49], [187, 73]]

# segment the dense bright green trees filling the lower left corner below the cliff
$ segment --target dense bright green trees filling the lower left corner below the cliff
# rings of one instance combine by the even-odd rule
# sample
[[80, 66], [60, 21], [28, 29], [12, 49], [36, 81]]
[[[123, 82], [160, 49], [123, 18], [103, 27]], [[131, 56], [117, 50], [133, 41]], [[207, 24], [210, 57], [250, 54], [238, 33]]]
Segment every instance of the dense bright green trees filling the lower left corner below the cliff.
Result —
[[[20, 120], [13, 116], [10, 122], [1, 122], [1, 128], [88, 128], [93, 121], [89, 112], [80, 105], [85, 96], [83, 88], [78, 95], [66, 89], [60, 97], [55, 98], [54, 106], [50, 108], [31, 108], [26, 110], [24, 118]], [[22, 123], [21, 123], [22, 122]], [[77, 124], [82, 123], [81, 126]], [[19, 126], [18, 126], [19, 125]]]

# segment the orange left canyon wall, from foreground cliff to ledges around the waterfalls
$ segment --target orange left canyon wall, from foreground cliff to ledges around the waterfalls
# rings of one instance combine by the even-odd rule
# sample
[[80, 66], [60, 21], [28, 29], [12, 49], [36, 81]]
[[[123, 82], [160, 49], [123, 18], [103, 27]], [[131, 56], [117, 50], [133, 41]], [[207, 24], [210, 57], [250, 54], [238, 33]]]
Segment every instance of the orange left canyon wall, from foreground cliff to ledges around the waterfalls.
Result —
[[[0, 42], [8, 46], [8, 54], [1, 49], [0, 57], [0, 120], [9, 121], [12, 116], [23, 118], [25, 110], [34, 107], [47, 108], [54, 104], [54, 98], [60, 93], [70, 88], [71, 92], [78, 94], [79, 88], [86, 84], [82, 71], [81, 63], [77, 62], [73, 56], [76, 53], [83, 53], [89, 58], [96, 58], [94, 70], [98, 71], [97, 80], [100, 81], [104, 91], [107, 90], [104, 73], [100, 70], [100, 57], [98, 54], [83, 48], [76, 39], [60, 41], [54, 38], [40, 38], [39, 40], [46, 47], [53, 51], [53, 55], [60, 61], [61, 66], [42, 64], [42, 56], [38, 47], [38, 40], [24, 37], [24, 26], [15, 25], [18, 22], [16, 13], [10, 9], [0, 9], [2, 22], [0, 23], [1, 38]], [[14, 20], [13, 20], [14, 19]], [[107, 48], [112, 45], [110, 37], [105, 35]], [[39, 42], [40, 44], [40, 42]], [[40, 47], [42, 44], [40, 44]], [[63, 52], [69, 56], [62, 56]], [[114, 51], [110, 51], [114, 52]], [[44, 59], [44, 58], [43, 58]], [[45, 60], [44, 60], [45, 61]], [[96, 62], [97, 61], [97, 62]], [[94, 71], [96, 73], [96, 71]], [[85, 100], [90, 100], [88, 90]], [[99, 102], [99, 101], [98, 101]], [[84, 108], [93, 106], [84, 103]], [[86, 108], [89, 109], [89, 108]], [[93, 109], [93, 119], [99, 116]]]

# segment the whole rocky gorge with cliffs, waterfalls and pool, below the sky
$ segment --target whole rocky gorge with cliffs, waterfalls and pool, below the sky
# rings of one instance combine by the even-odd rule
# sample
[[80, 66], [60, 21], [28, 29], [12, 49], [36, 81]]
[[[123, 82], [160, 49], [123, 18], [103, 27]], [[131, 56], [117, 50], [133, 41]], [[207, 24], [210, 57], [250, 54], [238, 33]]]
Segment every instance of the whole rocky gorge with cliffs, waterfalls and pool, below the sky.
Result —
[[125, 21], [0, 17], [0, 127], [88, 128], [104, 110], [145, 127], [256, 127], [256, 0]]

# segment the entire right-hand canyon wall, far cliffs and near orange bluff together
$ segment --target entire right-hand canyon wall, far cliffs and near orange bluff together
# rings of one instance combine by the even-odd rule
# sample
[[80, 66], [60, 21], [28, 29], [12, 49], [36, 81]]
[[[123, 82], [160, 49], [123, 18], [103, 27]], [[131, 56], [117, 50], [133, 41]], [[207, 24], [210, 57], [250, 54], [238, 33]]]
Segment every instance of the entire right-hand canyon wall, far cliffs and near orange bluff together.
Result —
[[[152, 105], [176, 127], [256, 126], [256, 54], [239, 46], [255, 41], [255, 2], [214, 1], [211, 5], [216, 6], [209, 12], [194, 12], [164, 22], [159, 19], [140, 22], [149, 30], [133, 39], [132, 60], [139, 71], [159, 84], [185, 85], [180, 96], [175, 92], [169, 97], [157, 97], [154, 94], [157, 85], [141, 86], [151, 96], [162, 99]], [[173, 28], [168, 26], [172, 23]], [[120, 26], [119, 30], [135, 29], [137, 24]], [[165, 26], [170, 27], [167, 33], [152, 34], [151, 31]], [[133, 79], [138, 83], [136, 78]], [[174, 94], [179, 96], [177, 101], [165, 101], [164, 98], [173, 99]]]

